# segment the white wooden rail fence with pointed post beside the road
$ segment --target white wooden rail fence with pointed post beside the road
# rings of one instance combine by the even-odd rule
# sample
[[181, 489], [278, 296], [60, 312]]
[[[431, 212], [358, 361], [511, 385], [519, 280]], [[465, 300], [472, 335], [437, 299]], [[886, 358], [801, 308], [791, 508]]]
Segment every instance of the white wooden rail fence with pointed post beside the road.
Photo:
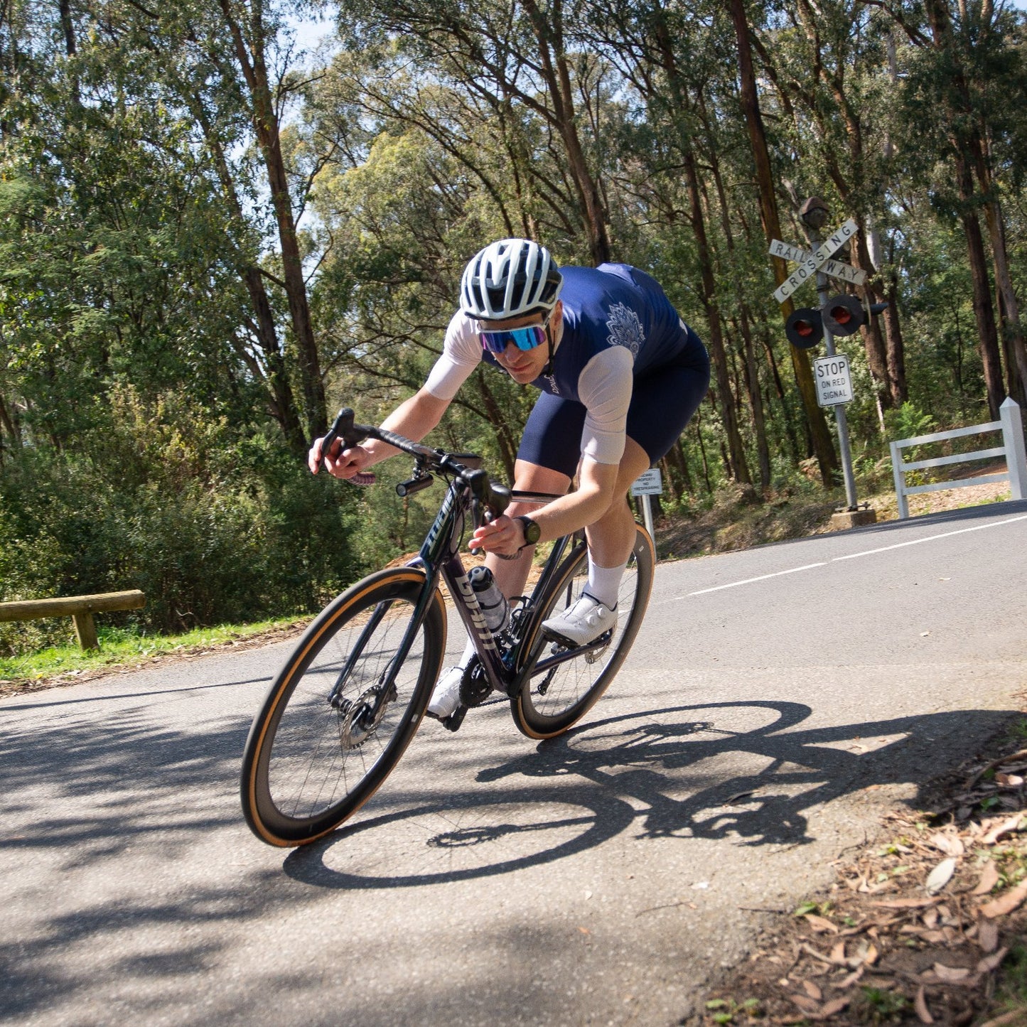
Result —
[[[961, 489], [966, 485], [983, 485], [986, 482], [1004, 482], [1009, 480], [1010, 491], [1014, 499], [1027, 498], [1027, 457], [1024, 454], [1024, 428], [1020, 416], [1020, 404], [1012, 396], [999, 409], [1000, 419], [987, 424], [973, 424], [968, 428], [956, 428], [954, 431], [936, 431], [931, 435], [918, 435], [916, 439], [900, 439], [891, 443], [891, 469], [896, 478], [896, 496], [899, 499], [899, 517], [909, 517], [907, 496], [918, 492], [938, 492], [941, 489]], [[984, 434], [987, 431], [1001, 431], [1002, 445], [991, 449], [975, 450], [973, 453], [956, 453], [954, 456], [939, 456], [933, 460], [914, 460], [906, 463], [902, 451], [911, 446], [923, 446], [925, 443], [940, 443], [946, 439], [962, 439], [965, 435]], [[955, 482], [936, 482], [934, 485], [906, 485], [907, 470], [922, 470], [925, 467], [944, 467], [947, 464], [965, 463], [967, 460], [983, 460], [992, 456], [1004, 456], [1007, 470], [1004, 474], [978, 474], [976, 478], [961, 478]]]

